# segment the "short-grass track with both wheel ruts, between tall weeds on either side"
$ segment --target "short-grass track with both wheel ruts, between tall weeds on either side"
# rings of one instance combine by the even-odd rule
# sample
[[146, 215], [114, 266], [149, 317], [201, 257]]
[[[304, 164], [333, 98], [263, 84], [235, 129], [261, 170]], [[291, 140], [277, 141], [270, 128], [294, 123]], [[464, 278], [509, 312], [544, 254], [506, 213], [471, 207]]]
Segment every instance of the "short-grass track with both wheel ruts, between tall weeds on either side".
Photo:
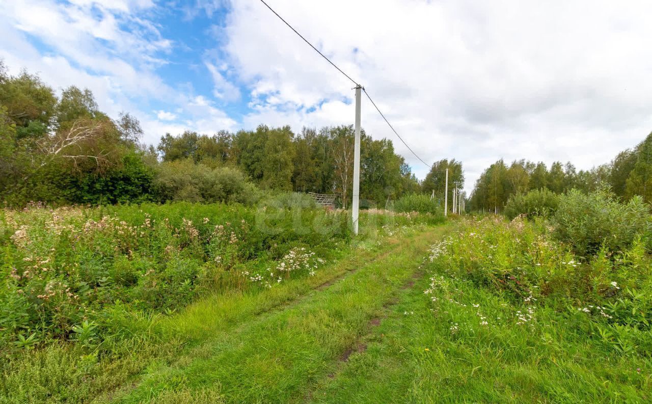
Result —
[[[645, 364], [604, 356], [546, 307], [514, 323], [520, 303], [423, 263], [445, 231], [396, 237], [269, 293], [190, 306], [162, 327], [194, 343], [111, 401], [648, 402]], [[439, 287], [424, 295], [430, 276]]]

